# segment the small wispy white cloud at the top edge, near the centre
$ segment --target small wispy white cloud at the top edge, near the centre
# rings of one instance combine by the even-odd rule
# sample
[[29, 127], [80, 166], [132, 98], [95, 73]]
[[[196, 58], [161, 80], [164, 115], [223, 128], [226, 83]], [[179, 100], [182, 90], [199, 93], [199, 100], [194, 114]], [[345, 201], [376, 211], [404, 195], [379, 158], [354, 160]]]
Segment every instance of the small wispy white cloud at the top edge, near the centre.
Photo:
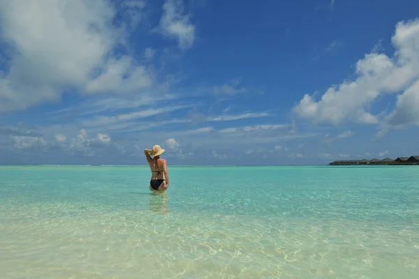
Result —
[[183, 12], [182, 0], [166, 0], [157, 30], [165, 36], [176, 38], [179, 48], [186, 50], [195, 40], [195, 27], [189, 15], [183, 15]]

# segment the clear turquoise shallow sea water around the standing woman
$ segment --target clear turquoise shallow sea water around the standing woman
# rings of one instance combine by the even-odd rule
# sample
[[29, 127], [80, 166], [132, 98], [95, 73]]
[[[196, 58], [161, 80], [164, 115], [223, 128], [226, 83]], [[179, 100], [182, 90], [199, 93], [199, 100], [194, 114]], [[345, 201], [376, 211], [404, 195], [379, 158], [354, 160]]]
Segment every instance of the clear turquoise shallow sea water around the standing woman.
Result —
[[0, 167], [1, 278], [419, 278], [419, 167]]

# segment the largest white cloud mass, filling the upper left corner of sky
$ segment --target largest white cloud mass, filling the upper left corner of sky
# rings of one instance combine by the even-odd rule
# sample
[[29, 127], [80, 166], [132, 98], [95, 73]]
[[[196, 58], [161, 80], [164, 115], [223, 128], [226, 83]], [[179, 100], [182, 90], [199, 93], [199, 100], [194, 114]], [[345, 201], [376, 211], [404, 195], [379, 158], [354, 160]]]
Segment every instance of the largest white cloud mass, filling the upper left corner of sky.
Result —
[[126, 24], [115, 27], [109, 1], [0, 1], [0, 41], [10, 54], [0, 71], [0, 112], [57, 101], [65, 88], [119, 93], [151, 86], [147, 68], [110, 54], [126, 45], [140, 3], [129, 1], [118, 14]]

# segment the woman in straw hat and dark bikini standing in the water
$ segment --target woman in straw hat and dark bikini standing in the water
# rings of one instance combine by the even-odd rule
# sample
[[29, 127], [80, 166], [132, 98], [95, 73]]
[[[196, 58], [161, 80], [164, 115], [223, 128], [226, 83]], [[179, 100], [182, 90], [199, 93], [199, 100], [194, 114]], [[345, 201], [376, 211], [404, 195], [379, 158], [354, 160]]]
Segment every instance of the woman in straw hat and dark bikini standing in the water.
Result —
[[152, 170], [149, 189], [153, 193], [162, 193], [169, 187], [169, 174], [166, 160], [160, 158], [161, 153], [164, 151], [159, 145], [154, 145], [152, 150], [144, 149], [145, 158], [147, 158], [147, 162]]

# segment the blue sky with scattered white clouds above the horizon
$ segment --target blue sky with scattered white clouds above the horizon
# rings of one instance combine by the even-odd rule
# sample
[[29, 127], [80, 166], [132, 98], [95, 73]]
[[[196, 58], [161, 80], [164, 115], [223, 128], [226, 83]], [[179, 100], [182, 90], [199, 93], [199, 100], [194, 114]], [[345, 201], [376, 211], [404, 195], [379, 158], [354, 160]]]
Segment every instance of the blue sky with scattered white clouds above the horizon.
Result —
[[418, 155], [419, 3], [1, 1], [0, 164]]

